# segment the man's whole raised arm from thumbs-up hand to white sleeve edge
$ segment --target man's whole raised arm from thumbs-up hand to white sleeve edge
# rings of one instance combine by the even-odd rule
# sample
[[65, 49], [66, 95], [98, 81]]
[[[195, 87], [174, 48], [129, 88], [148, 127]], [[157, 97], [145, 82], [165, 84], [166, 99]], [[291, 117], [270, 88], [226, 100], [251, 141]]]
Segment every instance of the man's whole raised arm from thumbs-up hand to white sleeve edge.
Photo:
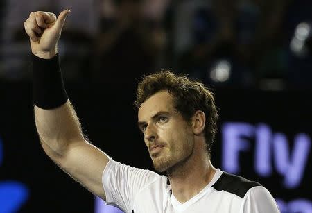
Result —
[[57, 43], [69, 10], [31, 12], [24, 23], [33, 53], [35, 123], [44, 151], [71, 177], [105, 199], [102, 173], [108, 157], [83, 137], [58, 70]]

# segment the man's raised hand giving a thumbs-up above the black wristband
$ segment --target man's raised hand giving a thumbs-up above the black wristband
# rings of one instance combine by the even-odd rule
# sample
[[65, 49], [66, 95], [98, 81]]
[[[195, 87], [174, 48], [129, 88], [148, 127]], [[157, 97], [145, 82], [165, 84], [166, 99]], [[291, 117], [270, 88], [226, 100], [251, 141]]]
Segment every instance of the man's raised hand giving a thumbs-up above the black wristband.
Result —
[[70, 10], [64, 10], [58, 17], [51, 12], [31, 12], [24, 22], [30, 37], [31, 51], [40, 58], [53, 58], [57, 53], [57, 44], [62, 28]]

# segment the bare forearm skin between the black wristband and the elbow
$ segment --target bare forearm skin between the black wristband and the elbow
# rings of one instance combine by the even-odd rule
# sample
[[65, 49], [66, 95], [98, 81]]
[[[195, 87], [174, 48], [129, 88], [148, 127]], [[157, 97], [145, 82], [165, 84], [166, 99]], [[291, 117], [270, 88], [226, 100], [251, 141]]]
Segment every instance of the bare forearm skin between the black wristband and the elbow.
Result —
[[70, 101], [55, 109], [44, 110], [35, 106], [34, 110], [37, 132], [40, 141], [49, 147], [48, 155], [62, 156], [73, 143], [84, 141]]

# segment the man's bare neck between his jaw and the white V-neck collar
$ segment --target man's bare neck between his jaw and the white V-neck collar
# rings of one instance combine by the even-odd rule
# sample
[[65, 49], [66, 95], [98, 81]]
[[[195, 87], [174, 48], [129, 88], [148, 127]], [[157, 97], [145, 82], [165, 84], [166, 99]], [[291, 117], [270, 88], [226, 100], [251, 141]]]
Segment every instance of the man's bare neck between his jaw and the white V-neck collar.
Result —
[[167, 171], [172, 192], [180, 203], [189, 201], [211, 182], [216, 169], [207, 155], [190, 155]]

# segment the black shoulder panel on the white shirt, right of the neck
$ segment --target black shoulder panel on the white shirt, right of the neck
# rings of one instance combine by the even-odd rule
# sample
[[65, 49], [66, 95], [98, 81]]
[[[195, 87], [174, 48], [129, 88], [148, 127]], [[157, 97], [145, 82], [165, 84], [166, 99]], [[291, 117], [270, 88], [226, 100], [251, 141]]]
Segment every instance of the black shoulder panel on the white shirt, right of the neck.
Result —
[[226, 172], [223, 172], [220, 178], [212, 185], [217, 191], [227, 191], [241, 198], [243, 198], [250, 189], [259, 186], [261, 186], [259, 182], [250, 181], [241, 176], [235, 176]]

